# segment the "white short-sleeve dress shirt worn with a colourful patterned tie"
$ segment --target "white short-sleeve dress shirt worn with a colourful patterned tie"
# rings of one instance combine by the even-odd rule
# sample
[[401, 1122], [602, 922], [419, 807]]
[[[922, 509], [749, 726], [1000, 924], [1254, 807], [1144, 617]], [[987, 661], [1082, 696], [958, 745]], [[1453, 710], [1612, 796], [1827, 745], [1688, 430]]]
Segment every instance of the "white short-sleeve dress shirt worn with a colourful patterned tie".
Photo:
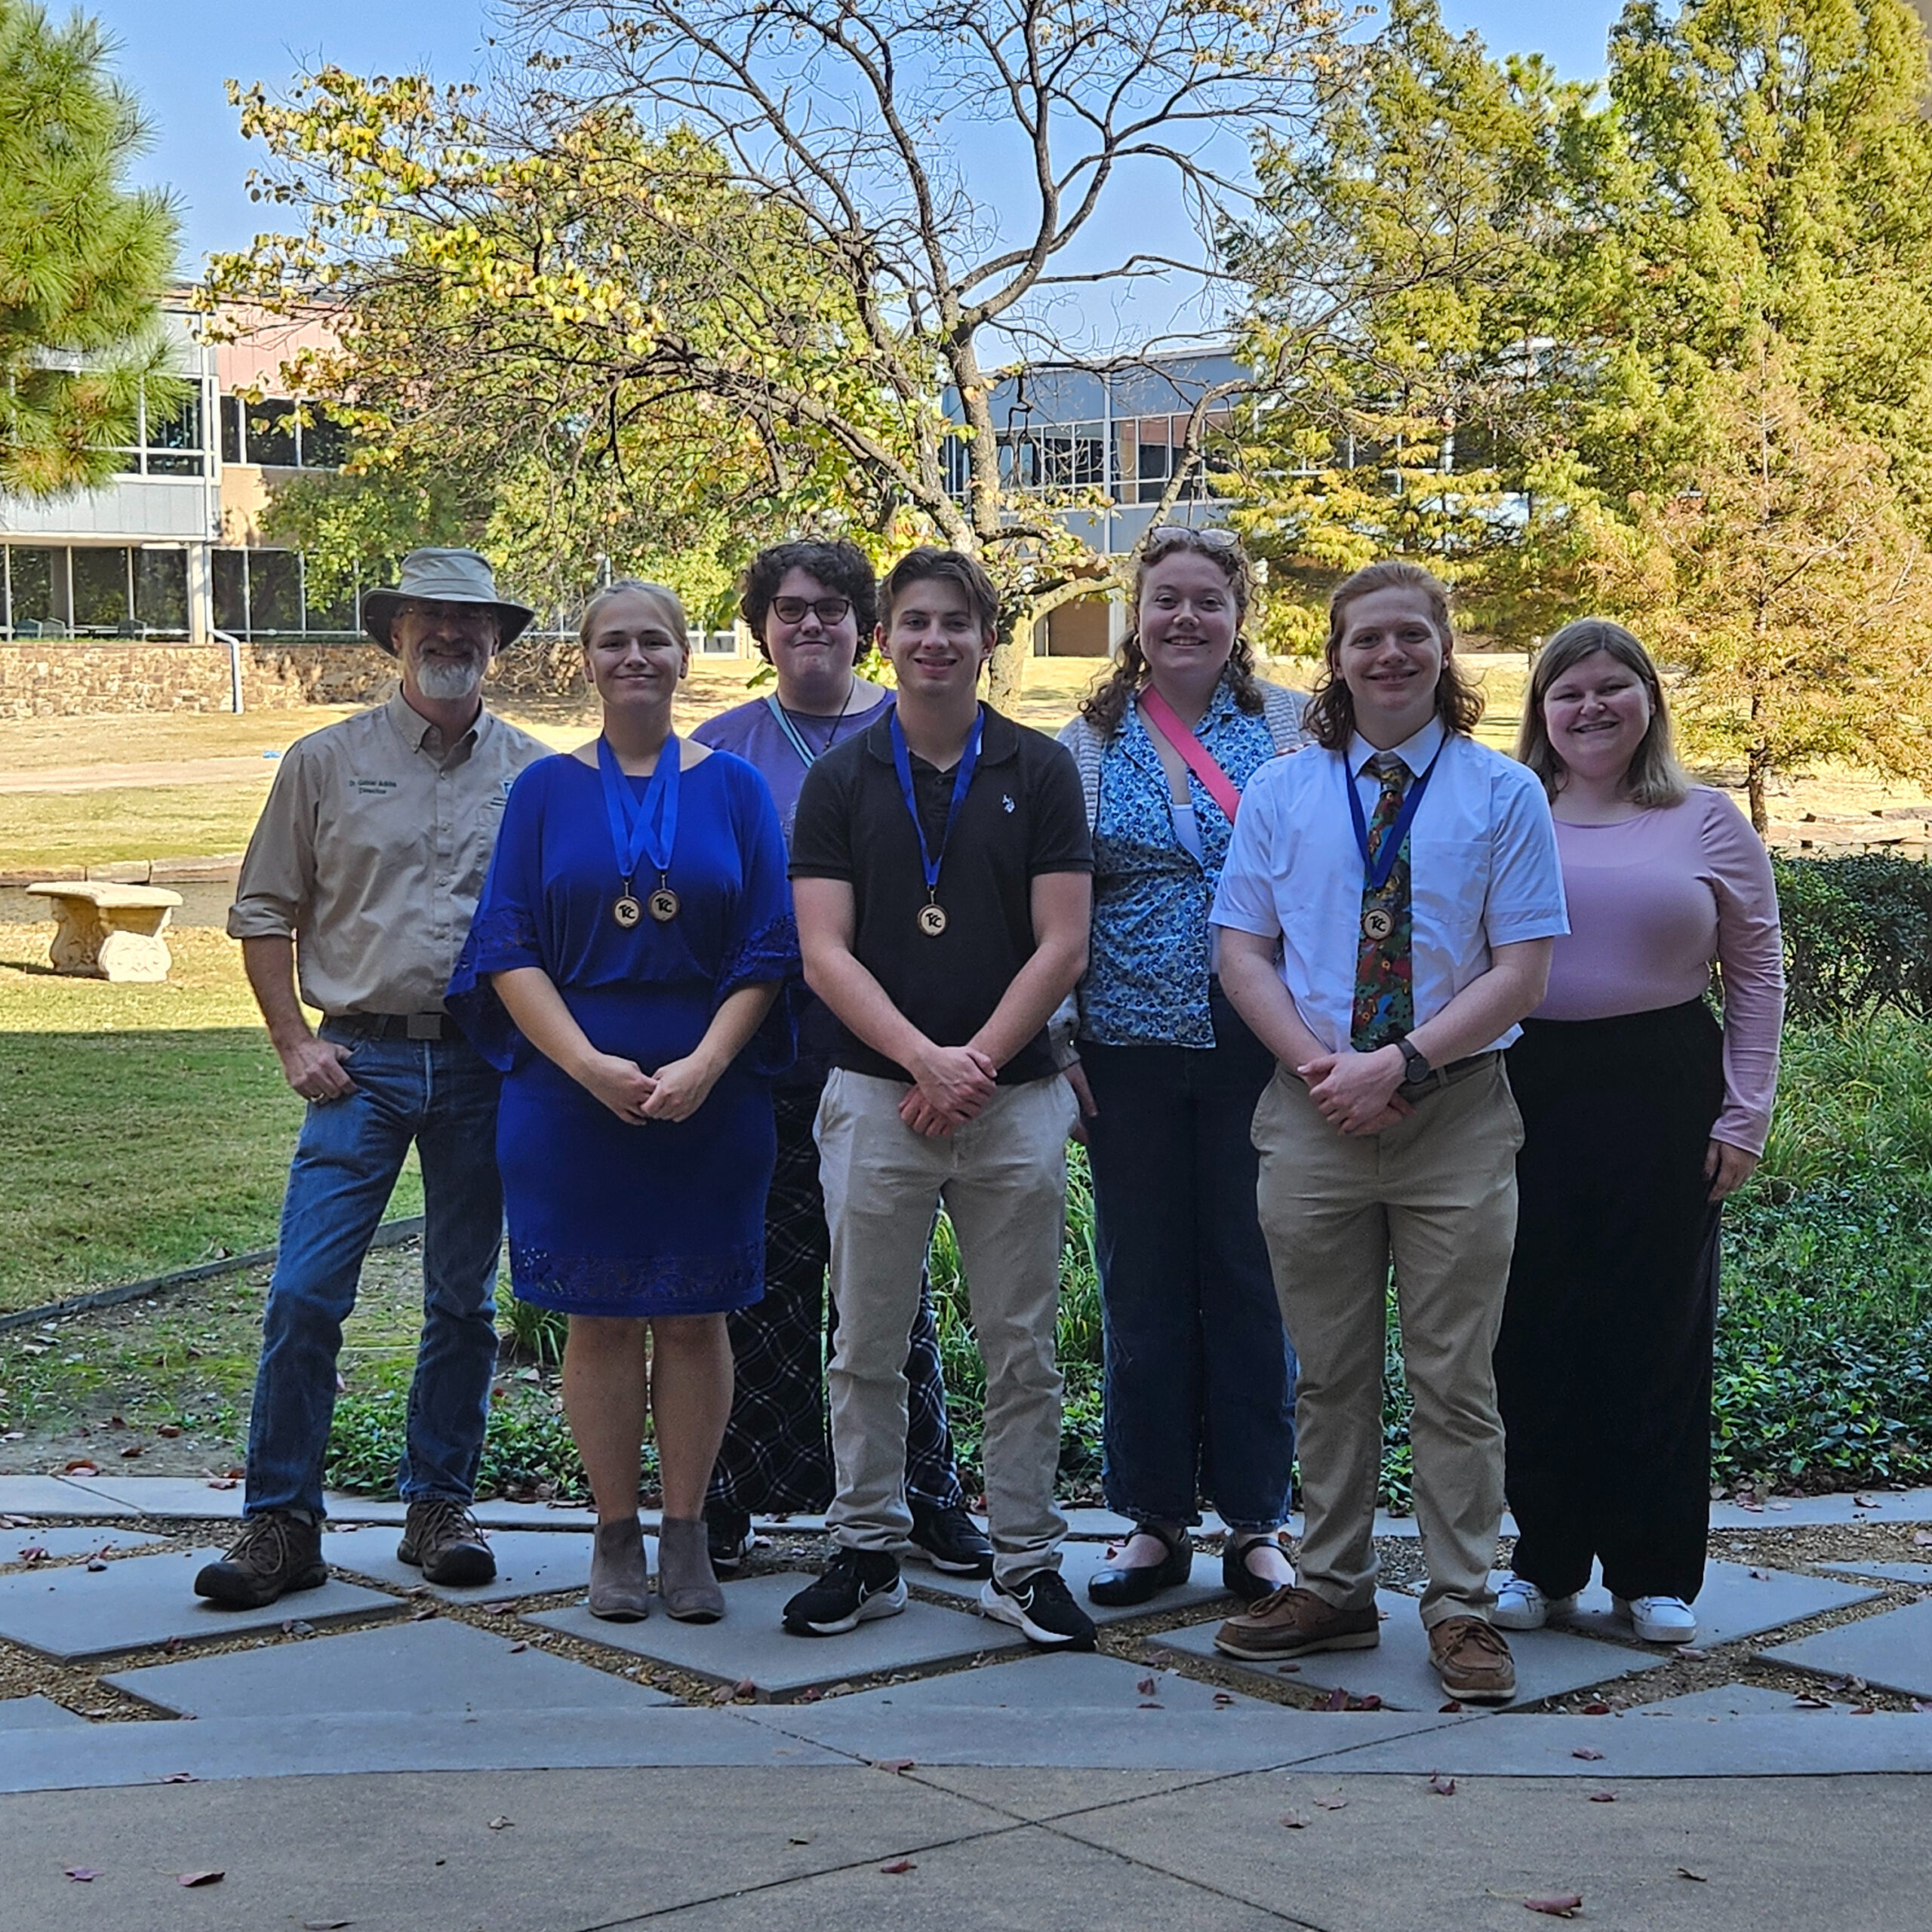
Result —
[[[1395, 750], [1416, 777], [1435, 761], [1408, 827], [1422, 1026], [1490, 970], [1492, 947], [1555, 939], [1569, 918], [1555, 825], [1532, 771], [1437, 719]], [[1337, 1053], [1349, 1045], [1362, 937], [1362, 852], [1347, 786], [1352, 777], [1370, 813], [1381, 790], [1364, 775], [1374, 755], [1356, 736], [1347, 757], [1310, 746], [1262, 765], [1242, 794], [1209, 914], [1215, 925], [1281, 941], [1281, 980], [1302, 1024]]]

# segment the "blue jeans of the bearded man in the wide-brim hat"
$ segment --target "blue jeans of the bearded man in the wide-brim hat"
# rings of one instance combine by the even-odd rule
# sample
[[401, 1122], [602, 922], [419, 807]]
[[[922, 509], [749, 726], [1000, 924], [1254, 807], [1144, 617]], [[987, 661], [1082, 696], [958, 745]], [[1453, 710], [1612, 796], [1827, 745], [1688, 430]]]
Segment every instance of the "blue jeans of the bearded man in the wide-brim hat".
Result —
[[355, 1092], [311, 1103], [282, 1200], [247, 1432], [247, 1515], [323, 1513], [342, 1323], [410, 1142], [423, 1167], [423, 1339], [398, 1472], [404, 1501], [469, 1501], [497, 1368], [497, 1070], [456, 1036], [354, 1039]]

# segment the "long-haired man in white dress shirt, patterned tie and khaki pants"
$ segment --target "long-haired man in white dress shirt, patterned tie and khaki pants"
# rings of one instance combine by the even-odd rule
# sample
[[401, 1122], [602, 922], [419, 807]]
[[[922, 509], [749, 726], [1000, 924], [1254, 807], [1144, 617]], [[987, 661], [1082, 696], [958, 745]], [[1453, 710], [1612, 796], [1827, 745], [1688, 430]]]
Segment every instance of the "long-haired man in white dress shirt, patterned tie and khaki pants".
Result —
[[1422, 1623], [1443, 1687], [1515, 1696], [1492, 1623], [1503, 1426], [1490, 1352], [1522, 1122], [1503, 1049], [1569, 929], [1534, 773], [1478, 744], [1449, 599], [1381, 562], [1329, 599], [1316, 746], [1256, 773], [1215, 896], [1221, 981], [1273, 1051], [1258, 1204], [1300, 1358], [1296, 1582], [1217, 1634], [1238, 1658], [1368, 1650], [1389, 1269], [1414, 1397]]

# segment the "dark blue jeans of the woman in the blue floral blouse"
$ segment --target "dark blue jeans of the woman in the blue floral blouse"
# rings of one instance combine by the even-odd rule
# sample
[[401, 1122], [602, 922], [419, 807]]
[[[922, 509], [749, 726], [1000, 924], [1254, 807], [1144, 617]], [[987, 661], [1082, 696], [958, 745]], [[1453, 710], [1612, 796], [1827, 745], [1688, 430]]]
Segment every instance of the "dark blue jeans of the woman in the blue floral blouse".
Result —
[[1213, 991], [1213, 1047], [1080, 1041], [1105, 1308], [1107, 1507], [1231, 1528], [1289, 1515], [1294, 1350], [1254, 1208], [1269, 1051]]

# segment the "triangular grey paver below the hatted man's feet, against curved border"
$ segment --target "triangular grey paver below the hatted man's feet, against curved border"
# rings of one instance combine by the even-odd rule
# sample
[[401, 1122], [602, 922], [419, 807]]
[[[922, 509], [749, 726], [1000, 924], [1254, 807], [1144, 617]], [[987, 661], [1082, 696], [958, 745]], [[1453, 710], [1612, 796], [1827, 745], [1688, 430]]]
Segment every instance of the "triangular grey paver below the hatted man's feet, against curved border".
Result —
[[153, 1663], [106, 1681], [178, 1718], [327, 1718], [348, 1712], [599, 1710], [672, 1704], [647, 1685], [535, 1646], [512, 1650], [468, 1623], [388, 1623], [305, 1644], [230, 1650], [185, 1663]]

